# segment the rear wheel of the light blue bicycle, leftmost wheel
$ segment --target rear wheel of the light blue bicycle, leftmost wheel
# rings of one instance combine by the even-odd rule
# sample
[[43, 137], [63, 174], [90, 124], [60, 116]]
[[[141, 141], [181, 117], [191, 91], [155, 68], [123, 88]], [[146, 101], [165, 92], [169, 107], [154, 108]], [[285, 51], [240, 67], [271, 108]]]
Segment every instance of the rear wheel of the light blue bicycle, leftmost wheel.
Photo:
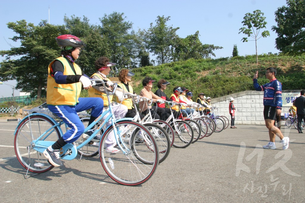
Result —
[[41, 140], [56, 142], [60, 137], [60, 130], [58, 127], [52, 128], [53, 121], [43, 115], [30, 115], [18, 124], [15, 131], [14, 149], [16, 157], [21, 165], [33, 172], [43, 173], [51, 170], [52, 166], [43, 153], [33, 149], [34, 140], [39, 138], [44, 132], [48, 133]]

